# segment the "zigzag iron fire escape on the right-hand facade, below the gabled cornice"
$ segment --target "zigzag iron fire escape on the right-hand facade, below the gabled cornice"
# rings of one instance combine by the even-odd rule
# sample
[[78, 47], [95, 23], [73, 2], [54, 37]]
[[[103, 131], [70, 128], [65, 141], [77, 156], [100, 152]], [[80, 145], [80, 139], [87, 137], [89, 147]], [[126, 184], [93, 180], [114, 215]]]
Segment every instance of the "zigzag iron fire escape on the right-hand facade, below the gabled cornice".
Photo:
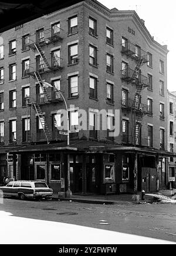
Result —
[[136, 93], [134, 99], [127, 99], [127, 105], [122, 106], [126, 109], [132, 111], [132, 135], [131, 135], [131, 144], [134, 146], [140, 144], [140, 133], [141, 125], [144, 115], [150, 114], [150, 109], [148, 105], [141, 103], [141, 92], [144, 88], [148, 87], [148, 78], [141, 75], [141, 67], [147, 63], [147, 52], [144, 52], [140, 49], [140, 54], [136, 51], [136, 45], [127, 41], [122, 44], [122, 54], [125, 54], [127, 58], [131, 57], [137, 62], [136, 68], [134, 70], [130, 69], [128, 66], [124, 67], [122, 70], [122, 77], [127, 84], [131, 83], [136, 85]]

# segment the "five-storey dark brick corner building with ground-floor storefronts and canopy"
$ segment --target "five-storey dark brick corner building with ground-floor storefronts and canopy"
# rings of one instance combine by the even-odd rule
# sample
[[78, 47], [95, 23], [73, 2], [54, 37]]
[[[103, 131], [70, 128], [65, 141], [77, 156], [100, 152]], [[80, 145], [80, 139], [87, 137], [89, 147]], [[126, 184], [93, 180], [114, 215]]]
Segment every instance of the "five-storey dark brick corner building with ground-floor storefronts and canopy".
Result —
[[[0, 36], [1, 177], [45, 180], [55, 191], [70, 179], [83, 193], [167, 185], [168, 50], [135, 11], [86, 0]], [[59, 132], [66, 105], [70, 145]], [[107, 129], [97, 131], [99, 111]]]

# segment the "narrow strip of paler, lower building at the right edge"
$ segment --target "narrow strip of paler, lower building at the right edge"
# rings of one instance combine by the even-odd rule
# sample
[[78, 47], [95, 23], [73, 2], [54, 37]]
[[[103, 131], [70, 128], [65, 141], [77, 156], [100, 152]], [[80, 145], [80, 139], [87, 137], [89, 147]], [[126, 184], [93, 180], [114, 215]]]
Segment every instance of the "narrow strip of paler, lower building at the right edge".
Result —
[[[168, 151], [176, 152], [175, 146], [175, 114], [176, 114], [176, 93], [168, 91]], [[171, 181], [171, 188], [175, 188], [175, 161], [170, 157], [168, 161], [168, 181]]]

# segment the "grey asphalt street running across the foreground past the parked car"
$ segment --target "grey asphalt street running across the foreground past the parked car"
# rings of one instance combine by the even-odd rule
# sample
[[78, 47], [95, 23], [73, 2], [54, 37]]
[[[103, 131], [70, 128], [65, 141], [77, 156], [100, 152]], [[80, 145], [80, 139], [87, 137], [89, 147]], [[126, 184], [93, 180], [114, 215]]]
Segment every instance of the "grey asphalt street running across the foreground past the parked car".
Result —
[[[156, 238], [163, 240], [163, 243], [165, 241], [176, 242], [175, 210], [176, 205], [172, 204], [134, 204], [133, 202], [98, 205], [72, 201], [21, 201], [4, 198], [3, 204], [0, 204], [0, 214], [8, 214], [6, 219], [8, 222], [13, 217], [16, 217], [15, 220], [17, 218], [20, 220], [28, 219], [35, 221], [35, 223], [37, 220], [50, 221], [58, 224], [76, 225], [75, 227], [96, 228], [96, 231], [99, 230], [100, 232], [107, 230], [121, 234]], [[0, 218], [1, 235], [3, 235], [3, 229], [6, 227], [2, 223], [3, 220]], [[0, 236], [0, 242], [1, 238]], [[130, 243], [129, 239], [130, 237], [127, 237], [127, 244]], [[69, 243], [68, 240], [66, 242]], [[77, 242], [79, 243], [79, 240]]]

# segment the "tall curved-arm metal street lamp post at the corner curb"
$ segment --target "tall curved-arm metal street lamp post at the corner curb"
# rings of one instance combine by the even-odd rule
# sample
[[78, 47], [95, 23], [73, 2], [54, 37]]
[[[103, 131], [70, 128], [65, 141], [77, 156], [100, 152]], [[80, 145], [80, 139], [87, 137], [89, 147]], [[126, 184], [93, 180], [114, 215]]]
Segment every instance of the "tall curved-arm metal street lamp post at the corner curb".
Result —
[[[65, 99], [62, 92], [59, 89], [57, 89], [56, 87], [53, 87], [53, 85], [49, 84], [48, 82], [43, 82], [43, 86], [45, 88], [48, 88], [48, 87], [55, 88], [55, 90], [57, 92], [59, 92], [59, 94], [63, 98], [63, 101], [65, 103], [65, 107], [66, 107], [66, 112], [67, 112], [67, 146], [69, 146], [70, 145], [69, 110], [68, 110], [68, 107], [67, 107], [66, 99]], [[67, 154], [67, 191], [66, 191], [66, 197], [68, 197], [68, 198], [72, 197], [72, 191], [70, 190], [70, 155], [69, 154]]]

